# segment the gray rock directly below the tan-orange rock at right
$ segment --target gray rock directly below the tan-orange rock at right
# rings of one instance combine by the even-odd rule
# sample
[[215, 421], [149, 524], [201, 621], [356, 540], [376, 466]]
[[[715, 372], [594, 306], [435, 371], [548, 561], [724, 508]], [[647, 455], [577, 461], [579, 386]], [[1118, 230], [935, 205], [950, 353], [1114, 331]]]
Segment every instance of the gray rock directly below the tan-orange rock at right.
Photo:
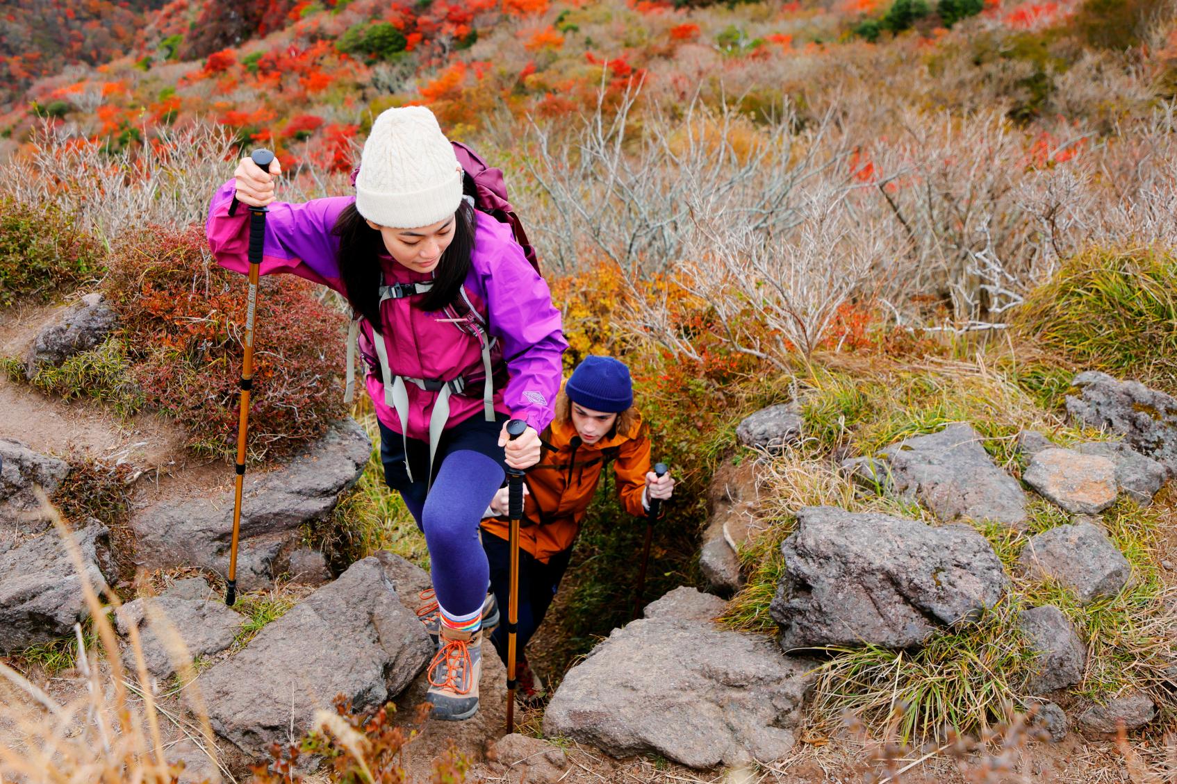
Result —
[[1031, 576], [1053, 577], [1084, 604], [1115, 596], [1132, 567], [1103, 530], [1090, 523], [1059, 525], [1030, 539], [1018, 558]]

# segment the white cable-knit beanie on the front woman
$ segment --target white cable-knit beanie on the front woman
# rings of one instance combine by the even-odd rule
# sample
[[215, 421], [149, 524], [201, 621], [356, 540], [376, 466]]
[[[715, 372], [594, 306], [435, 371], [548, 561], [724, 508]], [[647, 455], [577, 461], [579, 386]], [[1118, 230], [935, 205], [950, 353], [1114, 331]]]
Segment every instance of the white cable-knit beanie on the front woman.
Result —
[[461, 166], [433, 112], [381, 112], [360, 155], [355, 210], [380, 226], [418, 228], [445, 220], [460, 204]]

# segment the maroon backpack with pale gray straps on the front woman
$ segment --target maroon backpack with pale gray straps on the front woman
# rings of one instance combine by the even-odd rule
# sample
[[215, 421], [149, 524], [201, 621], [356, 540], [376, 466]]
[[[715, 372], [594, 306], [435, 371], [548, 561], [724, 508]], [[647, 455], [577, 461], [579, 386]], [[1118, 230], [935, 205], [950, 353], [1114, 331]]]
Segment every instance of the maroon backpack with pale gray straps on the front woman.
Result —
[[[514, 239], [523, 247], [524, 255], [531, 264], [532, 268], [537, 273], [540, 273], [539, 260], [536, 257], [536, 248], [531, 246], [527, 240], [527, 233], [523, 228], [523, 222], [519, 220], [519, 215], [516, 214], [514, 207], [511, 206], [511, 201], [507, 198], [506, 182], [503, 179], [503, 170], [494, 168], [486, 165], [478, 153], [467, 147], [466, 145], [451, 141], [453, 145], [454, 155], [458, 158], [458, 162], [461, 165], [463, 172], [465, 174], [464, 180], [468, 177], [474, 185], [474, 194], [471, 198], [474, 202], [474, 208], [480, 212], [485, 212], [491, 215], [500, 224], [507, 224], [511, 226], [511, 233]], [[360, 167], [357, 166], [352, 171], [352, 187], [355, 186], [355, 178], [360, 173]], [[463, 182], [463, 191], [466, 190], [466, 182]], [[426, 284], [408, 284], [408, 285], [394, 285], [394, 286], [381, 286], [380, 297], [381, 301], [384, 299], [397, 299], [401, 297], [410, 297], [412, 294], [419, 294], [432, 288], [431, 283]], [[491, 363], [491, 351], [497, 341], [486, 331], [486, 320], [483, 315], [474, 308], [470, 298], [466, 295], [466, 290], [459, 290], [459, 297], [447, 305], [443, 312], [446, 313], [448, 320], [463, 332], [473, 335], [478, 339], [483, 350], [483, 370], [485, 372], [483, 381], [483, 405], [484, 414], [487, 421], [494, 421], [494, 383], [493, 383], [493, 367]], [[355, 353], [357, 346], [359, 344], [359, 321], [363, 317], [355, 314], [352, 318], [351, 326], [347, 331], [347, 385], [344, 391], [344, 403], [351, 403], [354, 398], [355, 384]], [[395, 376], [390, 383], [390, 376], [392, 376], [388, 370], [388, 358], [386, 354], [387, 348], [384, 345], [384, 340], [380, 338], [380, 332], [375, 325], [372, 325], [372, 333], [374, 340], [374, 350], [377, 352], [381, 378], [385, 385], [385, 403], [397, 412], [398, 418], [401, 423], [401, 438], [405, 440], [405, 469], [408, 471], [408, 480], [413, 481], [413, 472], [408, 466], [408, 446], [405, 431], [408, 430], [407, 410], [408, 410], [408, 393], [405, 390], [405, 383], [414, 384], [421, 390], [439, 392], [437, 401], [433, 405], [433, 412], [430, 416], [430, 477], [428, 481], [432, 484], [433, 477], [433, 457], [437, 452], [438, 443], [441, 438], [441, 431], [445, 423], [448, 420], [450, 414], [450, 396], [461, 394], [466, 391], [466, 379], [459, 377], [452, 381], [441, 381], [439, 379], [418, 379], [418, 378], [405, 378]]]

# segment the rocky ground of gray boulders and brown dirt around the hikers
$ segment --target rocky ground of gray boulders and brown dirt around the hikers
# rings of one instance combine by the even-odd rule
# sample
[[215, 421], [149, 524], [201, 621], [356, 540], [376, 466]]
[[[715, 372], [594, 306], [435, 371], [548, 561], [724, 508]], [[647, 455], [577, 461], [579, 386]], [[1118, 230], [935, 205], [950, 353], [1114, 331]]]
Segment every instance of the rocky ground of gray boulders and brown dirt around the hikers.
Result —
[[[94, 345], [102, 328], [108, 319], [93, 299], [25, 311], [0, 330], [0, 354], [27, 357], [29, 367], [59, 363]], [[414, 780], [425, 780], [451, 742], [477, 760], [476, 780], [862, 780], [864, 748], [849, 735], [816, 735], [807, 724], [814, 663], [796, 649], [918, 649], [997, 606], [1015, 577], [1056, 580], [1083, 603], [1133, 579], [1099, 514], [1124, 496], [1151, 503], [1173, 477], [1177, 400], [1083, 373], [1068, 411], [1118, 439], [1063, 447], [1023, 432], [1020, 480], [995, 464], [966, 423], [842, 460], [863, 492], [909, 499], [935, 524], [836, 506], [800, 509], [780, 544], [789, 569], [770, 607], [776, 638], [716, 623], [746, 580], [737, 552], [769, 525], [758, 514], [757, 461], [725, 466], [712, 485], [701, 544], [709, 592], [684, 586], [652, 602], [643, 618], [614, 630], [564, 675], [545, 710], [520, 711], [521, 735], [500, 739], [505, 672], [493, 653], [484, 659], [483, 709], [474, 719], [414, 724], [432, 656], [414, 613], [428, 586], [425, 572], [379, 552], [332, 573], [324, 554], [304, 545], [304, 526], [331, 514], [368, 460], [371, 444], [354, 421], [338, 423], [280, 466], [247, 474], [240, 589], [281, 592], [292, 605], [259, 624], [222, 602], [232, 512], [224, 465], [188, 461], [162, 420], [121, 421], [98, 406], [66, 405], [0, 379], [0, 656], [19, 662], [31, 646], [72, 636], [89, 612], [84, 578], [128, 599], [144, 594], [117, 613], [119, 645], [132, 662], [132, 638], [140, 638], [152, 683], [139, 686], [159, 690], [169, 753], [187, 763], [182, 782], [241, 778], [271, 744], [306, 732], [314, 709], [340, 693], [360, 709], [394, 700], [395, 722], [418, 726], [406, 751]], [[803, 423], [793, 407], [773, 406], [737, 436], [771, 456], [804, 436]], [[134, 469], [126, 526], [138, 577], [120, 570], [112, 532], [98, 519], [69, 520], [79, 574], [40, 511], [34, 487], [52, 494], [79, 454]], [[1069, 524], [1028, 531], [1032, 498], [1049, 501]], [[1032, 536], [1017, 563], [1006, 564], [970, 520]], [[1172, 532], [1163, 536], [1169, 546]], [[1165, 552], [1158, 557], [1169, 560]], [[1018, 625], [1036, 657], [1028, 699], [1040, 705], [1038, 730], [1056, 742], [1026, 746], [1018, 763], [1024, 773], [1044, 782], [1121, 780], [1125, 769], [1109, 733], [1121, 725], [1148, 727], [1157, 718], [1153, 700], [1130, 692], [1102, 705], [1069, 695], [1086, 667], [1078, 631], [1050, 604], [1024, 609]], [[65, 702], [84, 690], [69, 677], [40, 680]], [[22, 699], [31, 713], [39, 710], [27, 695]], [[194, 731], [202, 716], [215, 749]], [[11, 748], [22, 742], [11, 719], [0, 723], [0, 737]], [[943, 756], [918, 757], [910, 758], [904, 780], [963, 780]]]

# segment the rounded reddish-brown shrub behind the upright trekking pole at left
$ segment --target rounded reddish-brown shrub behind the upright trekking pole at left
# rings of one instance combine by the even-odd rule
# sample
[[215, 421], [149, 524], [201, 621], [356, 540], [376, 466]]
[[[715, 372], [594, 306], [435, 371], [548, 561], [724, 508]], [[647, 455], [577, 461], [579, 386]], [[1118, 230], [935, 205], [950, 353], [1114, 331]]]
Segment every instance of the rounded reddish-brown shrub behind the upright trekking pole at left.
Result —
[[[199, 454], [232, 454], [245, 332], [245, 277], [207, 259], [204, 227], [149, 226], [112, 250], [104, 286], [146, 405], [179, 421]], [[280, 454], [344, 416], [345, 318], [291, 275], [261, 279], [250, 449]]]

